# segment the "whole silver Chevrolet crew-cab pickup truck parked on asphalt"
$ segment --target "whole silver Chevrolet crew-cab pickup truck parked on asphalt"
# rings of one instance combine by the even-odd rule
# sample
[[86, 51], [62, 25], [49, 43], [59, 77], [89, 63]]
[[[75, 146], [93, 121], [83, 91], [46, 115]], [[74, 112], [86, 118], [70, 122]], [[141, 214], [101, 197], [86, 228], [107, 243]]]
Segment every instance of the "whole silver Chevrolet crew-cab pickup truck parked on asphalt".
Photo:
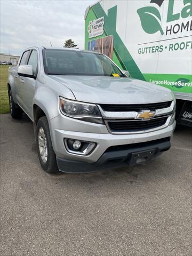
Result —
[[53, 47], [25, 50], [9, 68], [11, 116], [34, 123], [46, 172], [89, 172], [150, 161], [170, 148], [175, 99], [130, 78], [103, 54]]

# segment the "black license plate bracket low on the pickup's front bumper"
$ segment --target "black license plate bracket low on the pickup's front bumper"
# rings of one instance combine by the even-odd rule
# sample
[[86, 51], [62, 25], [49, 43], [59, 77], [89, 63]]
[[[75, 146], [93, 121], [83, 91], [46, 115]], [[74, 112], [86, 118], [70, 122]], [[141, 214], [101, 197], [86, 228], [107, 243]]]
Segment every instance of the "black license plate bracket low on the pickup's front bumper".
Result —
[[151, 158], [154, 157], [154, 153], [155, 153], [155, 148], [132, 153], [131, 159], [130, 159], [130, 165], [136, 165], [136, 164], [150, 161]]

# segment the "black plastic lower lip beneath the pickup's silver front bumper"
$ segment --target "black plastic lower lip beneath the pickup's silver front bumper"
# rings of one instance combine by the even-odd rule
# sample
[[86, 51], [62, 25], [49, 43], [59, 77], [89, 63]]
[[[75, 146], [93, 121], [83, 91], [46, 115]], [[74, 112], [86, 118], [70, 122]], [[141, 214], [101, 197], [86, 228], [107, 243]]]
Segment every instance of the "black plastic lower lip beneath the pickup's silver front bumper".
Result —
[[[99, 169], [106, 169], [110, 167], [118, 167], [123, 165], [137, 164], [133, 161], [135, 156], [140, 154], [148, 154], [153, 151], [153, 156], [146, 157], [145, 161], [161, 155], [164, 151], [171, 147], [170, 137], [149, 142], [134, 143], [132, 145], [121, 145], [109, 147], [105, 153], [94, 163], [86, 163], [80, 161], [70, 161], [57, 157], [57, 164], [61, 172], [68, 173], [87, 173]], [[150, 154], [148, 154], [150, 155]]]

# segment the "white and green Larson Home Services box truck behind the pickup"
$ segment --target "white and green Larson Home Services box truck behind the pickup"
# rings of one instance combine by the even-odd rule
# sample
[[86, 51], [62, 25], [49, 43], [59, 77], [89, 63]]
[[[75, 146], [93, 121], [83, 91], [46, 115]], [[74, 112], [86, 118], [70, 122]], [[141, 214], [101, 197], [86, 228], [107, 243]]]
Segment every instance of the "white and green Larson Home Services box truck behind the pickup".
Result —
[[177, 99], [177, 122], [192, 126], [192, 1], [101, 0], [85, 11], [85, 50], [108, 55], [131, 77]]

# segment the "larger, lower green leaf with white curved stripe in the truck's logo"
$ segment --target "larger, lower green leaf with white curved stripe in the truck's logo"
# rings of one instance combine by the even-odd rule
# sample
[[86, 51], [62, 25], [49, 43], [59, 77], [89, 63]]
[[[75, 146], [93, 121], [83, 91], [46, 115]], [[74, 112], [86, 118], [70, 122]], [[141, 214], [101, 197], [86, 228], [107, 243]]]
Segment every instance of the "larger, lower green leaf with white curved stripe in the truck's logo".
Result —
[[162, 35], [164, 34], [161, 27], [161, 15], [155, 7], [142, 7], [137, 10], [137, 13], [141, 20], [141, 26], [146, 33], [154, 34], [160, 31]]

